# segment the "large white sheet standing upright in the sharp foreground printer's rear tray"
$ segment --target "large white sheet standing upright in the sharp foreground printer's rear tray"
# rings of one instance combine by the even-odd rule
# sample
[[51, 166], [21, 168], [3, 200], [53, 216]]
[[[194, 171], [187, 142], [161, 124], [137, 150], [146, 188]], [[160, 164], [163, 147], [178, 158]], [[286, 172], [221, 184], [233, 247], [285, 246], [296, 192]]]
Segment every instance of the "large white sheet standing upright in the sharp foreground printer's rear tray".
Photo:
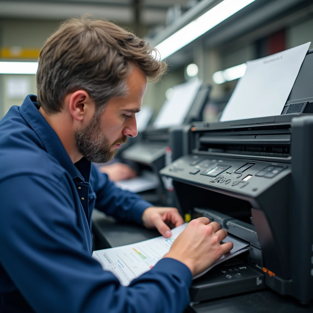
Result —
[[280, 115], [310, 42], [247, 62], [220, 121]]

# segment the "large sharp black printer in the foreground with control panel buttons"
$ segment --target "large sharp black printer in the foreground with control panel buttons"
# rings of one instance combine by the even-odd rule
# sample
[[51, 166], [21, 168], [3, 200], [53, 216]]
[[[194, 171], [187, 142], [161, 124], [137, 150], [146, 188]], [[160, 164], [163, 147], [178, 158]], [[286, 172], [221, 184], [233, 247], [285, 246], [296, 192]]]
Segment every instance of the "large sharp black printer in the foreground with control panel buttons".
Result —
[[[313, 299], [313, 50], [280, 115], [195, 122], [173, 180], [185, 216], [205, 216], [249, 250], [193, 281], [191, 301], [268, 287]], [[187, 215], [186, 215], [187, 214]]]

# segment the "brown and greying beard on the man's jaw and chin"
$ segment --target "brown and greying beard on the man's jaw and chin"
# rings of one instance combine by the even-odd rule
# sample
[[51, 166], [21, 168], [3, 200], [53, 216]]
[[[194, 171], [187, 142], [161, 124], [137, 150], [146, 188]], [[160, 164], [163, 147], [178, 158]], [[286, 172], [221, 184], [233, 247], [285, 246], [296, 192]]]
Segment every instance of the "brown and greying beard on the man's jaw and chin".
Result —
[[92, 117], [84, 129], [75, 132], [75, 138], [78, 151], [87, 160], [94, 163], [107, 163], [113, 160], [117, 149], [111, 151], [111, 148], [127, 141], [127, 136], [123, 135], [110, 145], [109, 139], [101, 132], [100, 115], [97, 114]]

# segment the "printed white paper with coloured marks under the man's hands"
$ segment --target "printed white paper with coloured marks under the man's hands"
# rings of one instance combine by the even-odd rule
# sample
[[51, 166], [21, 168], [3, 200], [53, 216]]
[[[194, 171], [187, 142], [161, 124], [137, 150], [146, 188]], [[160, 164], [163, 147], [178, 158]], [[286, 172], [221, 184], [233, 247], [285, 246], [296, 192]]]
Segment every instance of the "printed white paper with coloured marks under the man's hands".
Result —
[[[104, 270], [112, 272], [121, 282], [121, 285], [128, 286], [132, 280], [149, 271], [169, 251], [174, 240], [186, 228], [187, 223], [172, 229], [171, 238], [163, 236], [128, 244], [126, 246], [96, 250], [92, 257], [96, 259]], [[244, 243], [232, 236], [227, 236], [223, 242], [233, 241], [233, 249], [224, 254], [217, 262], [195, 278], [205, 274], [215, 265], [230, 259], [239, 253], [246, 251], [247, 243]]]

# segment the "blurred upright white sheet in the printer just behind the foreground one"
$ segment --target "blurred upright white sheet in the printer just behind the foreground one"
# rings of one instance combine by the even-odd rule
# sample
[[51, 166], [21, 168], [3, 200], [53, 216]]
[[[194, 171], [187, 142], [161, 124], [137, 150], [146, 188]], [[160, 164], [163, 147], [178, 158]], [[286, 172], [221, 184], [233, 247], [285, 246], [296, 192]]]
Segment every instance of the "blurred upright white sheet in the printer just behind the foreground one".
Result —
[[162, 105], [153, 122], [153, 127], [160, 129], [182, 125], [198, 94], [201, 83], [201, 80], [195, 79], [173, 87], [171, 99], [166, 100]]

